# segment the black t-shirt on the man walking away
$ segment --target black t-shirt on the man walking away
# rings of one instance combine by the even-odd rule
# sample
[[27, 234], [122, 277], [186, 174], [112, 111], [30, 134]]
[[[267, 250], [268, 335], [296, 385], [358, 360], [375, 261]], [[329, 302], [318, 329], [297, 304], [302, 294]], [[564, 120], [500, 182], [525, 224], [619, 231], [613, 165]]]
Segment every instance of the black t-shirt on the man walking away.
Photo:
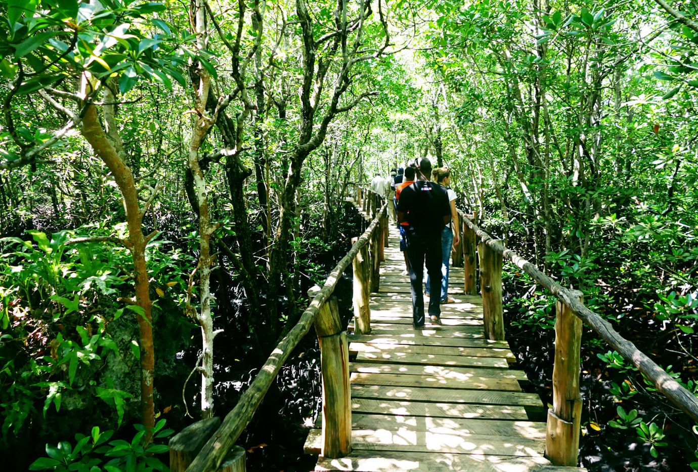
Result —
[[402, 189], [397, 210], [407, 214], [406, 220], [415, 231], [432, 234], [443, 231], [443, 217], [451, 214], [451, 205], [444, 187], [417, 180]]

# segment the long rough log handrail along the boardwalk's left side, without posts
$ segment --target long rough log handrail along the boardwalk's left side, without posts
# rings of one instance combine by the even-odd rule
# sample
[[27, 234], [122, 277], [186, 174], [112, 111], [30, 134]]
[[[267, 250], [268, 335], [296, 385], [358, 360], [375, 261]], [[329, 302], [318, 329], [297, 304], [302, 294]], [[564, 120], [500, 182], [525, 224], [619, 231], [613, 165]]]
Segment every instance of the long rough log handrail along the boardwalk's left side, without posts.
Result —
[[300, 340], [310, 331], [315, 317], [317, 317], [320, 311], [320, 307], [327, 301], [329, 296], [332, 295], [332, 292], [334, 292], [334, 288], [339, 282], [341, 275], [349, 264], [352, 263], [359, 250], [371, 241], [373, 232], [380, 227], [380, 220], [386, 209], [387, 203], [384, 203], [383, 208], [376, 213], [376, 217], [366, 231], [364, 231], [364, 234], [359, 236], [358, 241], [352, 245], [352, 248], [346, 256], [339, 261], [339, 264], [337, 264], [334, 270], [329, 274], [327, 280], [325, 280], [325, 285], [323, 285], [320, 292], [315, 295], [295, 327], [292, 327], [281, 342], [276, 345], [276, 348], [272, 351], [272, 355], [270, 355], [267, 362], [264, 363], [262, 369], [260, 369], [260, 372], [255, 377], [255, 380], [253, 380], [244, 394], [240, 396], [235, 408], [230, 410], [228, 415], [225, 415], [221, 427], [209, 438], [198, 455], [196, 455], [193, 462], [187, 467], [186, 471], [202, 472], [216, 471], [218, 469], [226, 455], [228, 455], [228, 451], [235, 445], [242, 431], [244, 431], [252, 420], [267, 390], [279, 374], [281, 366], [283, 366], [283, 363], [288, 359], [288, 356], [292, 350], [295, 349]]

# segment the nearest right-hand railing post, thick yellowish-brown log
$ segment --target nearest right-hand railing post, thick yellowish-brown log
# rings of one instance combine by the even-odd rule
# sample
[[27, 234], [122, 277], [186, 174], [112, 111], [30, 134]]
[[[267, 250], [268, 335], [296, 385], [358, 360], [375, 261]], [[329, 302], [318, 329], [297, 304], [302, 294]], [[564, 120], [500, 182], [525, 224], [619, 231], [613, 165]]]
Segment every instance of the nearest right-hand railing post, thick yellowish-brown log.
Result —
[[[579, 290], [570, 290], [570, 293], [579, 301], [583, 300]], [[555, 308], [553, 408], [548, 410], [545, 455], [556, 466], [577, 466], [581, 420], [581, 320], [560, 300]]]

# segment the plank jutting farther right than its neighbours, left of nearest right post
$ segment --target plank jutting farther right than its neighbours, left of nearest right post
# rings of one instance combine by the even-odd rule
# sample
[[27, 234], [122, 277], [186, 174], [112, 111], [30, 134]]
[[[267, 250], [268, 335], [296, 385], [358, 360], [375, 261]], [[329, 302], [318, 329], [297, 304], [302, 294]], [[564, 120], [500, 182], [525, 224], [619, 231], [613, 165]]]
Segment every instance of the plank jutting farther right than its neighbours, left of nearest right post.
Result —
[[[453, 390], [425, 387], [387, 387], [385, 385], [351, 385], [352, 400], [394, 399], [427, 401], [430, 403], [473, 403], [482, 405], [513, 405], [542, 408], [537, 394], [526, 392], [487, 392], [481, 390]], [[352, 418], [353, 420], [353, 418]], [[542, 423], [543, 434], [545, 423]]]

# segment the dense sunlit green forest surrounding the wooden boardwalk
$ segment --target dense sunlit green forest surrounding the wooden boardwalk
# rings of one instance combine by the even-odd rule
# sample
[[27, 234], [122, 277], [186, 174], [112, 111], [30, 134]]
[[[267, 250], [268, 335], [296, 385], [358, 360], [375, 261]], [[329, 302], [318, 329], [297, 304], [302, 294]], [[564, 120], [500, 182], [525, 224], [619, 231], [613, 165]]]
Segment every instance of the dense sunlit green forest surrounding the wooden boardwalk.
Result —
[[[26, 451], [9, 466], [77, 433], [36, 469], [160, 467], [160, 420], [225, 414], [346, 251], [352, 184], [414, 157], [697, 392], [695, 0], [0, 12], [1, 434]], [[505, 271], [508, 322], [549, 344], [554, 300]], [[583, 350], [582, 464], [698, 466], [695, 426], [596, 338]], [[131, 424], [146, 449], [103, 457]]]

